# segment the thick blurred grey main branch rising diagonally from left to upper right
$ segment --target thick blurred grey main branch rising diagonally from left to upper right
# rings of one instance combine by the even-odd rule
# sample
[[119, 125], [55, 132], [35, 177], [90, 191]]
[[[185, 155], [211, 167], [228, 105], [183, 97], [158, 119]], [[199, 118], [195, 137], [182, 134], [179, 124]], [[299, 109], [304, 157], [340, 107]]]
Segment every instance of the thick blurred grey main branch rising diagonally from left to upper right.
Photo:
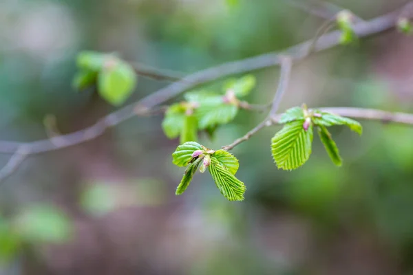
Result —
[[[390, 12], [389, 14], [385, 14], [370, 21], [357, 23], [354, 25], [354, 33], [361, 38], [394, 28], [394, 23], [399, 18], [400, 12], [401, 10], [397, 10], [396, 12]], [[327, 50], [331, 47], [339, 45], [340, 35], [340, 31], [335, 31], [321, 36], [314, 47], [314, 51], [321, 52], [322, 50]], [[279, 65], [282, 60], [281, 56], [291, 56], [293, 61], [299, 61], [306, 58], [308, 49], [312, 43], [313, 39], [290, 47], [282, 53], [275, 52], [263, 54], [252, 58], [246, 58], [241, 61], [225, 63], [218, 67], [211, 67], [195, 74], [191, 74], [176, 83], [172, 83], [171, 85], [168, 85], [167, 87], [142, 98], [142, 100], [139, 100], [134, 104], [129, 104], [126, 107], [105, 116], [92, 126], [89, 126], [81, 131], [54, 137], [65, 140], [65, 142], [62, 142], [59, 146], [54, 144], [54, 138], [50, 140], [39, 140], [27, 143], [0, 141], [0, 153], [14, 153], [20, 146], [23, 145], [30, 148], [30, 154], [44, 153], [65, 148], [67, 146], [80, 144], [82, 142], [87, 142], [98, 137], [99, 135], [102, 135], [109, 127], [120, 124], [120, 122], [134, 117], [136, 115], [136, 110], [149, 111], [151, 108], [156, 107], [159, 104], [182, 94], [182, 92], [196, 87], [197, 85], [209, 83], [213, 80], [218, 80], [233, 74], [241, 74], [244, 72], [251, 72], [257, 69], [264, 69]]]

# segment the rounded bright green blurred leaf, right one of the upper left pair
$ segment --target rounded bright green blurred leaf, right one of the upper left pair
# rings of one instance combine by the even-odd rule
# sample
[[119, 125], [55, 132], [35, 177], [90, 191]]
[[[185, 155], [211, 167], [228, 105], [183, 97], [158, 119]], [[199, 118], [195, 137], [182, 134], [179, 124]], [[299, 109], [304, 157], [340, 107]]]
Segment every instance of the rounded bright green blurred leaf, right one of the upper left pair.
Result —
[[99, 73], [98, 91], [107, 102], [118, 106], [133, 93], [137, 78], [131, 65], [118, 59], [110, 62], [111, 64]]

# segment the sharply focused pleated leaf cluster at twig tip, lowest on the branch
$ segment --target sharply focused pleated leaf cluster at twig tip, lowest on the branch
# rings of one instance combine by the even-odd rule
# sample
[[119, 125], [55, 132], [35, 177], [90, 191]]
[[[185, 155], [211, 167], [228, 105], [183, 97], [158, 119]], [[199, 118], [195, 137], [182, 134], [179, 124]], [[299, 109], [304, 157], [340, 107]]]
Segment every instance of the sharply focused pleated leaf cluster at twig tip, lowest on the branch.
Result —
[[239, 164], [238, 159], [224, 150], [214, 151], [196, 142], [185, 142], [178, 146], [172, 154], [173, 164], [187, 167], [182, 180], [176, 188], [176, 195], [187, 190], [196, 170], [204, 173], [209, 170], [215, 185], [229, 201], [242, 201], [246, 187], [235, 177]]

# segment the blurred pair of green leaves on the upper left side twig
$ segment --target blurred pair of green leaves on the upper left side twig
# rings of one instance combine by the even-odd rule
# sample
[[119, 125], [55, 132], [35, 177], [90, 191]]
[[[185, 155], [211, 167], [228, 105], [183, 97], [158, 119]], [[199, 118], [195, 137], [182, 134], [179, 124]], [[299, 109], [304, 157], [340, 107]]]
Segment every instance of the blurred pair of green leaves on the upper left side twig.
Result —
[[134, 68], [115, 54], [81, 52], [77, 67], [73, 86], [81, 90], [96, 83], [100, 96], [115, 106], [131, 96], [137, 83]]

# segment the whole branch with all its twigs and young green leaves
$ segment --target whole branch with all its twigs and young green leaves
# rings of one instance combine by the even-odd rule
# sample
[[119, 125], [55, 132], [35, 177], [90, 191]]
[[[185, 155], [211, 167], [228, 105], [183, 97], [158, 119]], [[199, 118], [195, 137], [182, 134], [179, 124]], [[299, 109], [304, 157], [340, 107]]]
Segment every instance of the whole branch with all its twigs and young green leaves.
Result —
[[[325, 14], [326, 11], [326, 9], [320, 12], [320, 10], [313, 10], [313, 8], [304, 8], [315, 14]], [[116, 53], [81, 52], [77, 59], [78, 74], [73, 80], [74, 88], [81, 91], [87, 87], [95, 87], [104, 100], [116, 107], [123, 105], [134, 92], [136, 85], [138, 85], [138, 75], [155, 80], [171, 80], [173, 83], [138, 100], [138, 102], [120, 107], [114, 113], [106, 115], [92, 126], [80, 131], [67, 135], [59, 135], [58, 131], [47, 131], [53, 135], [45, 140], [34, 142], [0, 141], [0, 153], [12, 154], [9, 161], [0, 170], [0, 180], [6, 179], [14, 173], [28, 155], [81, 144], [93, 140], [102, 135], [106, 129], [129, 118], [156, 113], [165, 113], [162, 122], [165, 135], [171, 139], [180, 137], [180, 145], [172, 154], [173, 164], [186, 167], [186, 170], [176, 189], [176, 195], [181, 195], [187, 189], [196, 170], [200, 170], [201, 173], [209, 170], [213, 181], [226, 199], [242, 201], [246, 186], [235, 177], [239, 163], [237, 158], [228, 151], [249, 140], [264, 127], [274, 124], [284, 124], [283, 128], [275, 133], [272, 140], [268, 141], [268, 145], [271, 147], [269, 150], [271, 150], [278, 168], [293, 170], [302, 166], [309, 159], [315, 130], [332, 162], [341, 166], [342, 159], [339, 155], [339, 149], [332, 140], [328, 127], [344, 125], [361, 134], [361, 124], [351, 118], [413, 125], [413, 115], [347, 107], [308, 109], [305, 104], [278, 114], [279, 103], [286, 93], [293, 64], [304, 60], [310, 54], [328, 50], [337, 45], [349, 45], [363, 37], [394, 28], [403, 34], [410, 34], [413, 29], [410, 23], [413, 2], [410, 1], [395, 12], [384, 14], [370, 21], [364, 21], [352, 12], [336, 6], [334, 10], [337, 12], [328, 14], [325, 18], [326, 22], [321, 25], [315, 33], [315, 37], [310, 41], [290, 47], [284, 52], [262, 54], [241, 61], [224, 63], [183, 77], [182, 74], [175, 72], [166, 72], [130, 63], [120, 58]], [[328, 32], [332, 28], [336, 30]], [[275, 96], [270, 105], [251, 104], [251, 102], [242, 100], [244, 96], [255, 89], [256, 80], [252, 74], [227, 79], [218, 90], [194, 89], [231, 75], [251, 73], [257, 69], [277, 65], [280, 65], [281, 70]], [[184, 92], [186, 94], [182, 100], [178, 100], [170, 106], [162, 105]], [[301, 103], [297, 102], [298, 105]], [[222, 146], [218, 150], [198, 144], [200, 132], [205, 132], [209, 137], [213, 137], [216, 129], [230, 123], [240, 110], [265, 111], [266, 109], [269, 109], [266, 118], [233, 143]]]

